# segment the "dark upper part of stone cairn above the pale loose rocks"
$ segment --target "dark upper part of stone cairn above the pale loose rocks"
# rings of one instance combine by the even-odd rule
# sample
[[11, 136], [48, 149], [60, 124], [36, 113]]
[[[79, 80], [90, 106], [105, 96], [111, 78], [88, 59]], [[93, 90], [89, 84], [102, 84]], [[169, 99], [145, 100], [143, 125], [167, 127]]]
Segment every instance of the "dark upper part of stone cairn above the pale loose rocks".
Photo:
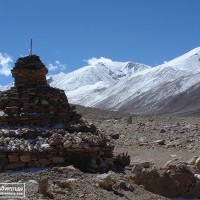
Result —
[[80, 118], [64, 91], [47, 84], [39, 56], [19, 58], [11, 72], [15, 85], [0, 96], [0, 125], [52, 126]]

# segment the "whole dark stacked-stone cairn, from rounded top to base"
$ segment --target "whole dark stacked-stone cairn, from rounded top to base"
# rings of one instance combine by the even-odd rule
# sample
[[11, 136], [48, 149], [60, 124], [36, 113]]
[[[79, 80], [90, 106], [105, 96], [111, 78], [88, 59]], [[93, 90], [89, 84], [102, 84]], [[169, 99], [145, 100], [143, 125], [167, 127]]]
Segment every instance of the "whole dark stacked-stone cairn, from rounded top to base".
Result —
[[19, 58], [15, 85], [0, 93], [0, 170], [74, 165], [88, 172], [113, 167], [113, 146], [81, 119], [63, 90], [46, 80], [39, 56]]

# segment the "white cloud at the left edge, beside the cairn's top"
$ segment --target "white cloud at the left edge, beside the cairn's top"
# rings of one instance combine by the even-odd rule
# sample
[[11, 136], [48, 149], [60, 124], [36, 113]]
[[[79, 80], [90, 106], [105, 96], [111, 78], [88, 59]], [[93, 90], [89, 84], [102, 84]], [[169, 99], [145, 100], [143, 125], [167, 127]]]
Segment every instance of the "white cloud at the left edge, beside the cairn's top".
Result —
[[0, 53], [0, 74], [9, 76], [11, 75], [11, 63], [13, 63], [10, 56]]

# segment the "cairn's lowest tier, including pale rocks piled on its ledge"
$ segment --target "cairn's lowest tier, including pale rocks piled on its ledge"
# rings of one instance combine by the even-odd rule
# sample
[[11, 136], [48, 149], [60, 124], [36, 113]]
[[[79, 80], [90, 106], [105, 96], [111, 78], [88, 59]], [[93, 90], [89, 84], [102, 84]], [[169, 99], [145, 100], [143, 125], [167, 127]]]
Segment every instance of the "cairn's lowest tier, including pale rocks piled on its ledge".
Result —
[[68, 130], [0, 130], [0, 170], [73, 164], [83, 171], [108, 171], [114, 147], [93, 125], [84, 125], [71, 124]]

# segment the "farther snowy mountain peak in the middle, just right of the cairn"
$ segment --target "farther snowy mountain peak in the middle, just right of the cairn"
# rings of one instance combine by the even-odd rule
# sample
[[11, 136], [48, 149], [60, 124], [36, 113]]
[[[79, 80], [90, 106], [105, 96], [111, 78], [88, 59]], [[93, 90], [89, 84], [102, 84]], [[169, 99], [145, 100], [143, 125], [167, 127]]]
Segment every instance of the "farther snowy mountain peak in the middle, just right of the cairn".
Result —
[[114, 62], [107, 58], [93, 58], [88, 64], [71, 73], [52, 76], [50, 85], [65, 90], [70, 103], [90, 106], [94, 97], [101, 97], [120, 80], [149, 68], [140, 63]]

